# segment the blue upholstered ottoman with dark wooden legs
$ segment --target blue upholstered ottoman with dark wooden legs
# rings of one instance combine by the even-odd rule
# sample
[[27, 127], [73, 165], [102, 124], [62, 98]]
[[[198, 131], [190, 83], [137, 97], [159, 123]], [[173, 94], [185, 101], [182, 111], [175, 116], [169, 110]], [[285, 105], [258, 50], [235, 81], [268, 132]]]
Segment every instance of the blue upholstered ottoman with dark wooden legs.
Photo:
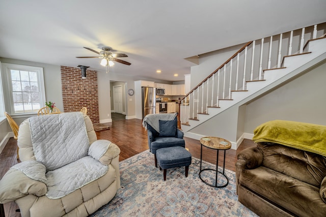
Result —
[[164, 180], [167, 180], [167, 169], [185, 167], [185, 177], [188, 176], [189, 165], [192, 163], [192, 154], [184, 147], [175, 146], [156, 150], [159, 169], [163, 169]]

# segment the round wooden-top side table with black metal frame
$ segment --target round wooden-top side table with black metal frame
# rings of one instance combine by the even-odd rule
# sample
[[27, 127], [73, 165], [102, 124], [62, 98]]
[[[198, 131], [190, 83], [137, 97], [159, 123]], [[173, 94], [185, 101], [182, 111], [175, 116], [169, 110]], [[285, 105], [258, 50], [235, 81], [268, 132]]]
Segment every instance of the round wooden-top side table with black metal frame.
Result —
[[[200, 179], [205, 184], [208, 184], [211, 187], [215, 187], [215, 188], [224, 188], [224, 187], [226, 187], [226, 185], [228, 185], [228, 183], [229, 183], [229, 179], [224, 174], [224, 170], [225, 170], [225, 151], [231, 148], [231, 142], [229, 142], [226, 139], [219, 138], [219, 137], [203, 137], [203, 138], [200, 139], [200, 144], [201, 144], [201, 149], [200, 149], [200, 172], [199, 172]], [[216, 169], [210, 169], [210, 168], [202, 169], [203, 146], [205, 146], [207, 148], [210, 148], [210, 149], [215, 149], [216, 150]], [[218, 170], [219, 150], [224, 150], [223, 172], [220, 172]], [[205, 170], [215, 171], [215, 183], [214, 184], [208, 183], [207, 181], [205, 181], [202, 178], [201, 173], [203, 171], [205, 171]], [[226, 178], [226, 183], [225, 184], [219, 184], [218, 185], [218, 173], [221, 173]]]

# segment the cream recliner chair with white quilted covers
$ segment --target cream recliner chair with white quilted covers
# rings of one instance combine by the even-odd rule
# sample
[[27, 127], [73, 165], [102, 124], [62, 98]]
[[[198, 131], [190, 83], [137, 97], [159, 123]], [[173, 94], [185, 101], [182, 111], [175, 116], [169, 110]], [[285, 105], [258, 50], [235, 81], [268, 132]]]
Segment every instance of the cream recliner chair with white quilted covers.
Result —
[[23, 121], [18, 134], [22, 161], [0, 180], [0, 203], [15, 201], [24, 216], [87, 216], [120, 188], [119, 147], [97, 140], [81, 112]]

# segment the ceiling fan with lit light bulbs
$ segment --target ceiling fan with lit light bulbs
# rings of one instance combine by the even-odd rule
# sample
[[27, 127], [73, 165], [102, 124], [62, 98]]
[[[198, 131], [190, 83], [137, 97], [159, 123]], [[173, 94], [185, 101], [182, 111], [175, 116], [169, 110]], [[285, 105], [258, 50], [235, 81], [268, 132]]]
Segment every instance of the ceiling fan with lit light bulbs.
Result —
[[100, 52], [93, 50], [91, 48], [88, 47], [84, 47], [94, 53], [97, 53], [99, 56], [76, 56], [76, 58], [101, 58], [101, 65], [102, 66], [106, 66], [106, 73], [108, 72], [108, 66], [113, 66], [114, 63], [113, 61], [116, 61], [118, 63], [121, 64], [125, 64], [130, 66], [131, 63], [128, 63], [127, 61], [121, 60], [121, 59], [117, 59], [118, 57], [128, 57], [127, 54], [124, 53], [112, 53], [110, 52], [110, 47], [102, 47], [102, 50]]

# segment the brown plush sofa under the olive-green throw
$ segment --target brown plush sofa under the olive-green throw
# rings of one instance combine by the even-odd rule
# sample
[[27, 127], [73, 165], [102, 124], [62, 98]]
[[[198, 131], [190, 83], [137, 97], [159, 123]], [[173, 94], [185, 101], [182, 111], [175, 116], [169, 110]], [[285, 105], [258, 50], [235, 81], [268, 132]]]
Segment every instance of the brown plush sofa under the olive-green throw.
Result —
[[[321, 135], [326, 150], [326, 131]], [[275, 142], [258, 142], [237, 158], [238, 200], [256, 214], [326, 216], [325, 156]]]

